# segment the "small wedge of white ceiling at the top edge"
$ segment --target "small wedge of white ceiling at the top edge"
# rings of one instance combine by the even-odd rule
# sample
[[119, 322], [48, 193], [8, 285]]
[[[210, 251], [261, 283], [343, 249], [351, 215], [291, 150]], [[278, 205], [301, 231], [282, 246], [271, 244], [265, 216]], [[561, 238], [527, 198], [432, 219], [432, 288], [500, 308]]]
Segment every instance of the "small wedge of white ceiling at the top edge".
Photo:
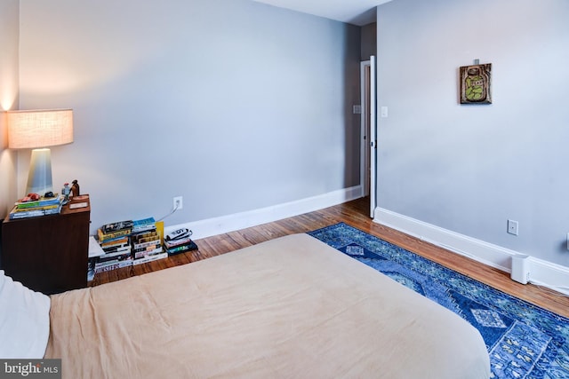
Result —
[[375, 22], [375, 7], [391, 0], [254, 0], [326, 19], [364, 26]]

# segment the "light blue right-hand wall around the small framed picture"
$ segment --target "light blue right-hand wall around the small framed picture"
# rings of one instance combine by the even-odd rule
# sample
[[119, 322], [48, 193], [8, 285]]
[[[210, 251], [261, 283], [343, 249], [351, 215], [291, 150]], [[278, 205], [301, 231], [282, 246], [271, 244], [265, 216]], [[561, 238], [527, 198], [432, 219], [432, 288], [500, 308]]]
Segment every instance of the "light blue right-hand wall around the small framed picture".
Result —
[[[379, 206], [569, 265], [567, 20], [566, 0], [379, 6]], [[473, 59], [493, 64], [492, 105], [459, 104]]]

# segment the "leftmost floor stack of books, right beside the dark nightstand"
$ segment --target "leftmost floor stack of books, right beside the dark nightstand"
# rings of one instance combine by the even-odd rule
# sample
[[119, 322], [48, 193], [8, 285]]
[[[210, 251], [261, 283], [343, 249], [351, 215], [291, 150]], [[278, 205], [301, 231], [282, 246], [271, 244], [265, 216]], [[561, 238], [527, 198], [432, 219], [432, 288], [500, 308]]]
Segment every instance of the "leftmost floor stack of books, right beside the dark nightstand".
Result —
[[95, 273], [132, 265], [132, 220], [102, 225], [97, 230], [100, 248], [105, 254], [94, 262]]

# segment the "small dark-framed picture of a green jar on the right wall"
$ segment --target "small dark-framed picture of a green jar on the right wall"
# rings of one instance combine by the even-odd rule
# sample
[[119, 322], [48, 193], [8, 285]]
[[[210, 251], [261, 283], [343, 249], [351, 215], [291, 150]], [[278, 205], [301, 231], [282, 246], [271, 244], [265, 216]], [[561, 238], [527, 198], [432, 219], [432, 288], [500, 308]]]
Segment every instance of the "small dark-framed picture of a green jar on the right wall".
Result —
[[492, 104], [492, 63], [463, 66], [461, 104]]

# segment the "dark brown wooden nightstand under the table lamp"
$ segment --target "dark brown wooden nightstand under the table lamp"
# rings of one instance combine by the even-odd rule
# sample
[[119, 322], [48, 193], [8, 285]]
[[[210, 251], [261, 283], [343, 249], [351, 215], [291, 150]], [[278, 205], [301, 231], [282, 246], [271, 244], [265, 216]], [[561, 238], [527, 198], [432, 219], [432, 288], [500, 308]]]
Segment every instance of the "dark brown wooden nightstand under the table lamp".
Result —
[[[87, 206], [71, 209], [82, 202]], [[90, 217], [88, 195], [70, 201], [59, 215], [6, 217], [0, 268], [13, 280], [46, 295], [87, 287]]]

